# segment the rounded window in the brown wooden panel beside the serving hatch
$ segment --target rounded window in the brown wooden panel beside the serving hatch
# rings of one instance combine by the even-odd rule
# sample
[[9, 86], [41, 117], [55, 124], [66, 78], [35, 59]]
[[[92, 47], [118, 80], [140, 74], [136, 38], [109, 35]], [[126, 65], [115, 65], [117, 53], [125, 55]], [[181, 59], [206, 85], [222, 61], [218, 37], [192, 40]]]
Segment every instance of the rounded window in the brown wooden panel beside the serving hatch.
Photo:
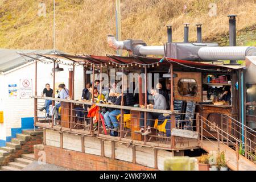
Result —
[[193, 78], [181, 78], [178, 82], [178, 90], [181, 96], [195, 97], [197, 94], [197, 83]]

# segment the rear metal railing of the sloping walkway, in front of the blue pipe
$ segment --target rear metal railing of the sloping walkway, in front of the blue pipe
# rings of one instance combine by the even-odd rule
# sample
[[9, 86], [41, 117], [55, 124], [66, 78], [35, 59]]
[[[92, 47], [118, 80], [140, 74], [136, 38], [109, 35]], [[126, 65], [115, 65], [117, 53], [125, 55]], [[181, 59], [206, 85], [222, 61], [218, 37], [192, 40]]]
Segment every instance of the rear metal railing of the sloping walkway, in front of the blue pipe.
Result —
[[[256, 131], [250, 129], [236, 119], [226, 114], [221, 114], [221, 130], [230, 133], [233, 138], [240, 140], [240, 154], [249, 160], [253, 160], [256, 153]], [[223, 138], [221, 138], [223, 142]], [[228, 144], [227, 140], [227, 144]]]

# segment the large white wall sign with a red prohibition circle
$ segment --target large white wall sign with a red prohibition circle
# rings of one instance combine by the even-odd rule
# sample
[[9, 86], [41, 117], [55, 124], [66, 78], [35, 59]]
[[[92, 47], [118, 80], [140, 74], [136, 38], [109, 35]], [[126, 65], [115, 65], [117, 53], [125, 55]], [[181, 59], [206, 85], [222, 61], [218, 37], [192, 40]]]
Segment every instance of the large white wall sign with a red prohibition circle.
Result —
[[32, 79], [20, 79], [19, 98], [32, 98]]

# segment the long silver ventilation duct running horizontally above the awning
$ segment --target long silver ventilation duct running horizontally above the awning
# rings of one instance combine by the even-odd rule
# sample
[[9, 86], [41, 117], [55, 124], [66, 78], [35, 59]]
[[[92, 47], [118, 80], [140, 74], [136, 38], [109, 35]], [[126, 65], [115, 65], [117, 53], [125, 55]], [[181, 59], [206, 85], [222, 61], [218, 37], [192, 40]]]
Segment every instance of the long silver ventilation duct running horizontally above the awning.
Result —
[[[142, 40], [117, 41], [108, 36], [109, 46], [125, 49], [134, 55], [164, 55], [163, 46], [146, 46]], [[255, 47], [218, 47], [217, 43], [167, 43], [167, 57], [189, 61], [245, 60], [245, 56], [256, 56]]]

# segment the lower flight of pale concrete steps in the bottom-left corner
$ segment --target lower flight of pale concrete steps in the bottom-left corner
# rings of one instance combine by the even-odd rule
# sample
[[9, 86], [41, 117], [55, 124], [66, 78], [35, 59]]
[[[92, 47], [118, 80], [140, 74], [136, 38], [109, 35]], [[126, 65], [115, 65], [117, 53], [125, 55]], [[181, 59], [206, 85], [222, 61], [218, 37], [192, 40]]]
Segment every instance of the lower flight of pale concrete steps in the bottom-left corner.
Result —
[[21, 158], [15, 158], [14, 162], [9, 162], [7, 166], [1, 166], [0, 171], [21, 171], [34, 160], [34, 154], [22, 154]]

